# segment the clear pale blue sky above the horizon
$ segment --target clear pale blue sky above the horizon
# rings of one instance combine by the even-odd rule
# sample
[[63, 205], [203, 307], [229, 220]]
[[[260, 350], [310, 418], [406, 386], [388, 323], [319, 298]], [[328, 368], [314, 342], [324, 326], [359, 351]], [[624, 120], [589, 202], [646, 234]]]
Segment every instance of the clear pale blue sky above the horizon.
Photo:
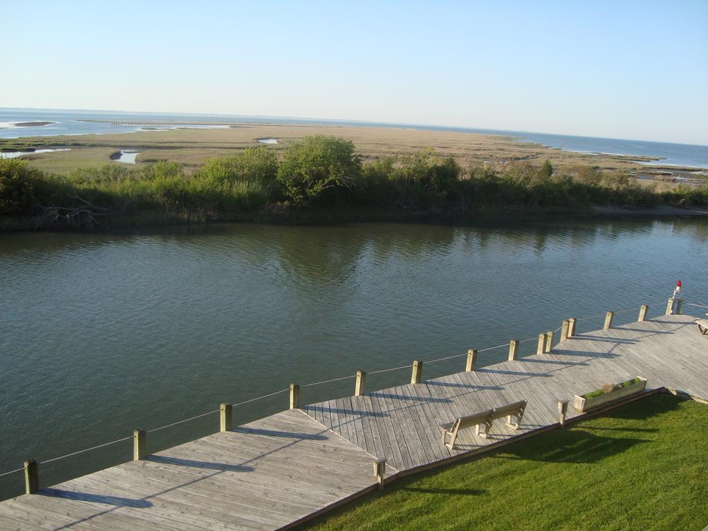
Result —
[[0, 107], [708, 144], [704, 0], [0, 0], [0, 21]]

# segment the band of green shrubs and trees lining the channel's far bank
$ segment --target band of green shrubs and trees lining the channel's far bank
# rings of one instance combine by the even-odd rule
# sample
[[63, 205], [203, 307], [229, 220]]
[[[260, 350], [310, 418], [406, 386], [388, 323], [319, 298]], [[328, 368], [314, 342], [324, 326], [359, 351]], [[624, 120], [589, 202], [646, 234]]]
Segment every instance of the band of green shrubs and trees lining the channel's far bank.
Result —
[[[626, 173], [514, 163], [463, 167], [433, 149], [363, 161], [353, 142], [307, 137], [282, 152], [252, 147], [194, 171], [157, 162], [68, 176], [0, 160], [0, 216], [35, 228], [230, 220], [464, 218], [489, 213], [575, 214], [596, 205], [708, 206], [708, 188], [658, 191]], [[26, 222], [6, 222], [5, 227]]]

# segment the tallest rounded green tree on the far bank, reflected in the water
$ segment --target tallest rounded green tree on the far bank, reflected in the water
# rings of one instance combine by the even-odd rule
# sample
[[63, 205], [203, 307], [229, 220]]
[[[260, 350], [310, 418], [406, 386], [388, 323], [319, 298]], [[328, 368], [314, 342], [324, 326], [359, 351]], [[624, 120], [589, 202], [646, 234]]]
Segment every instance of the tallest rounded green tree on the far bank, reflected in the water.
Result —
[[362, 170], [354, 143], [338, 137], [305, 137], [285, 151], [278, 181], [296, 205], [309, 205], [326, 190], [352, 185]]

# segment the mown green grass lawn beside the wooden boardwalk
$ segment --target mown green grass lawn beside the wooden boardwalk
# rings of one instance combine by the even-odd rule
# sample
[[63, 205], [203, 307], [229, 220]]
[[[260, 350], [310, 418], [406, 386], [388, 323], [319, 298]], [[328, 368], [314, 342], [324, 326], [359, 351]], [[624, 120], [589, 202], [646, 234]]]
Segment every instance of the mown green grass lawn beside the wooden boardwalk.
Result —
[[708, 525], [708, 406], [649, 396], [394, 481], [299, 530], [683, 530]]

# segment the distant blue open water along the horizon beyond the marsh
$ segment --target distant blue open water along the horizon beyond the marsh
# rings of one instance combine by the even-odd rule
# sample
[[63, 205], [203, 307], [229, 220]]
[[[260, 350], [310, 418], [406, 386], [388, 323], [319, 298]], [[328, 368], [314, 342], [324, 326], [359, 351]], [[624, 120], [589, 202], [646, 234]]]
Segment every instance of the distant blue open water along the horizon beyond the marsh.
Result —
[[[114, 120], [131, 123], [130, 127], [113, 127], [108, 122], [84, 122], [81, 120]], [[42, 127], [6, 127], [13, 122], [53, 121]], [[509, 135], [523, 142], [537, 142], [544, 146], [572, 152], [612, 153], [636, 156], [657, 156], [656, 164], [708, 168], [708, 146], [669, 144], [666, 142], [643, 142], [641, 140], [618, 140], [573, 135], [547, 135], [544, 133], [475, 129], [466, 127], [436, 127], [378, 122], [348, 122], [346, 120], [313, 120], [307, 118], [278, 118], [272, 116], [244, 115], [196, 115], [164, 113], [110, 113], [101, 110], [13, 109], [0, 108], [0, 138], [35, 137], [50, 135], [89, 135], [115, 132], [135, 132], [147, 127], [150, 121], [164, 122], [278, 122], [292, 124], [353, 125], [367, 127], [412, 127], [421, 130], [461, 131], [486, 135]], [[2, 128], [6, 127], [6, 128]], [[178, 127], [185, 127], [180, 125]], [[188, 125], [186, 127], [207, 127]], [[209, 127], [228, 127], [213, 125]], [[152, 130], [167, 130], [174, 127], [149, 126]], [[261, 140], [263, 142], [263, 139]]]

